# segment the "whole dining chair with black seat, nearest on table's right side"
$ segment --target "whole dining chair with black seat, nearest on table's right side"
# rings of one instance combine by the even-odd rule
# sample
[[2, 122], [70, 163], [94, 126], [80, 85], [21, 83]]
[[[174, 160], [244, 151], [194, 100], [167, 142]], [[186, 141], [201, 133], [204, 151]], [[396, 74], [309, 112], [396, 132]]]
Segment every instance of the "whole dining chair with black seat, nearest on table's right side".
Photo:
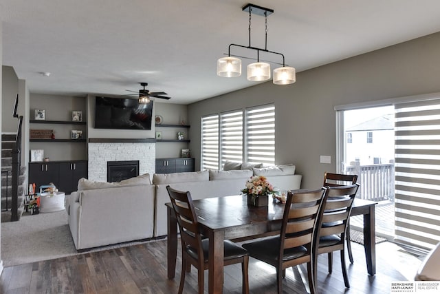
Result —
[[278, 293], [283, 293], [285, 269], [307, 262], [310, 293], [316, 293], [314, 260], [317, 255], [317, 235], [327, 188], [301, 193], [287, 193], [280, 235], [263, 238], [242, 246], [252, 258], [276, 268]]

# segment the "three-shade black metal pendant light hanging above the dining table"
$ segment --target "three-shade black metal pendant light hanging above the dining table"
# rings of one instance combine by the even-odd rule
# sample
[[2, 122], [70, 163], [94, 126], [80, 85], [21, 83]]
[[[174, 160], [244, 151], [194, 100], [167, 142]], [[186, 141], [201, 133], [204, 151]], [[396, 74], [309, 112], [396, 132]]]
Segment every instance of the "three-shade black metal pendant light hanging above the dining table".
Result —
[[[270, 8], [263, 8], [261, 6], [256, 6], [254, 4], [247, 4], [242, 8], [243, 11], [249, 12], [249, 45], [237, 45], [230, 44], [228, 48], [228, 57], [223, 57], [217, 61], [217, 75], [224, 77], [235, 77], [241, 76], [241, 60], [236, 56], [231, 56], [231, 47], [241, 47], [250, 50], [256, 50], [256, 63], [251, 63], [248, 65], [248, 80], [249, 81], [267, 81], [270, 79], [270, 64], [260, 61], [260, 51], [267, 52], [271, 54], [278, 54], [283, 57], [282, 67], [278, 67], [274, 70], [273, 83], [276, 85], [289, 85], [296, 81], [295, 68], [285, 65], [284, 55], [278, 52], [267, 50], [267, 16], [274, 13], [274, 10]], [[250, 31], [251, 31], [251, 20], [252, 14], [257, 14], [265, 17], [265, 48], [252, 47], [250, 41]]]

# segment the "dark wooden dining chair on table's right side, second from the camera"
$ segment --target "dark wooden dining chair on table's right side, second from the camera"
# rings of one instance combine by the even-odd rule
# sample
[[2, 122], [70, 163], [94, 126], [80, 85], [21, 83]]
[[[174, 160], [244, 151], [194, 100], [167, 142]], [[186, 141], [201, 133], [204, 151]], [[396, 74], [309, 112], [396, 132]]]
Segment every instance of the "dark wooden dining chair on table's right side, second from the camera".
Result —
[[[344, 284], [350, 288], [347, 266], [345, 265], [345, 238], [348, 228], [351, 207], [358, 191], [359, 184], [327, 187], [328, 195], [324, 203], [324, 213], [319, 231], [318, 255], [328, 253], [329, 273], [333, 269], [333, 251], [340, 251]], [[317, 262], [317, 260], [315, 260]], [[317, 264], [314, 265], [316, 269]], [[314, 272], [316, 279], [316, 271]]]

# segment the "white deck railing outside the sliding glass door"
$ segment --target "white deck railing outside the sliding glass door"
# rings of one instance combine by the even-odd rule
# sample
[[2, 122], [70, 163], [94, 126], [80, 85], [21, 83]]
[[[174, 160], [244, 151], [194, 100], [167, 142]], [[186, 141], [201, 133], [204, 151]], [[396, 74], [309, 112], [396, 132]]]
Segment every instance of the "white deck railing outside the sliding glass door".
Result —
[[356, 198], [394, 201], [394, 163], [347, 166], [347, 174], [358, 174], [360, 184]]

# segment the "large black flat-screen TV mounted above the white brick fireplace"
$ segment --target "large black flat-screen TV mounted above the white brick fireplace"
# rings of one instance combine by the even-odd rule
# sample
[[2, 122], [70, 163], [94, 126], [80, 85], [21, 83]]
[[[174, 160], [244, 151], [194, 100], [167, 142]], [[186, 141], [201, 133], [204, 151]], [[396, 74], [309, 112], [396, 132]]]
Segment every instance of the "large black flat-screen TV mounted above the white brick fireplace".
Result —
[[96, 97], [96, 129], [151, 129], [153, 101], [139, 104], [137, 98]]

